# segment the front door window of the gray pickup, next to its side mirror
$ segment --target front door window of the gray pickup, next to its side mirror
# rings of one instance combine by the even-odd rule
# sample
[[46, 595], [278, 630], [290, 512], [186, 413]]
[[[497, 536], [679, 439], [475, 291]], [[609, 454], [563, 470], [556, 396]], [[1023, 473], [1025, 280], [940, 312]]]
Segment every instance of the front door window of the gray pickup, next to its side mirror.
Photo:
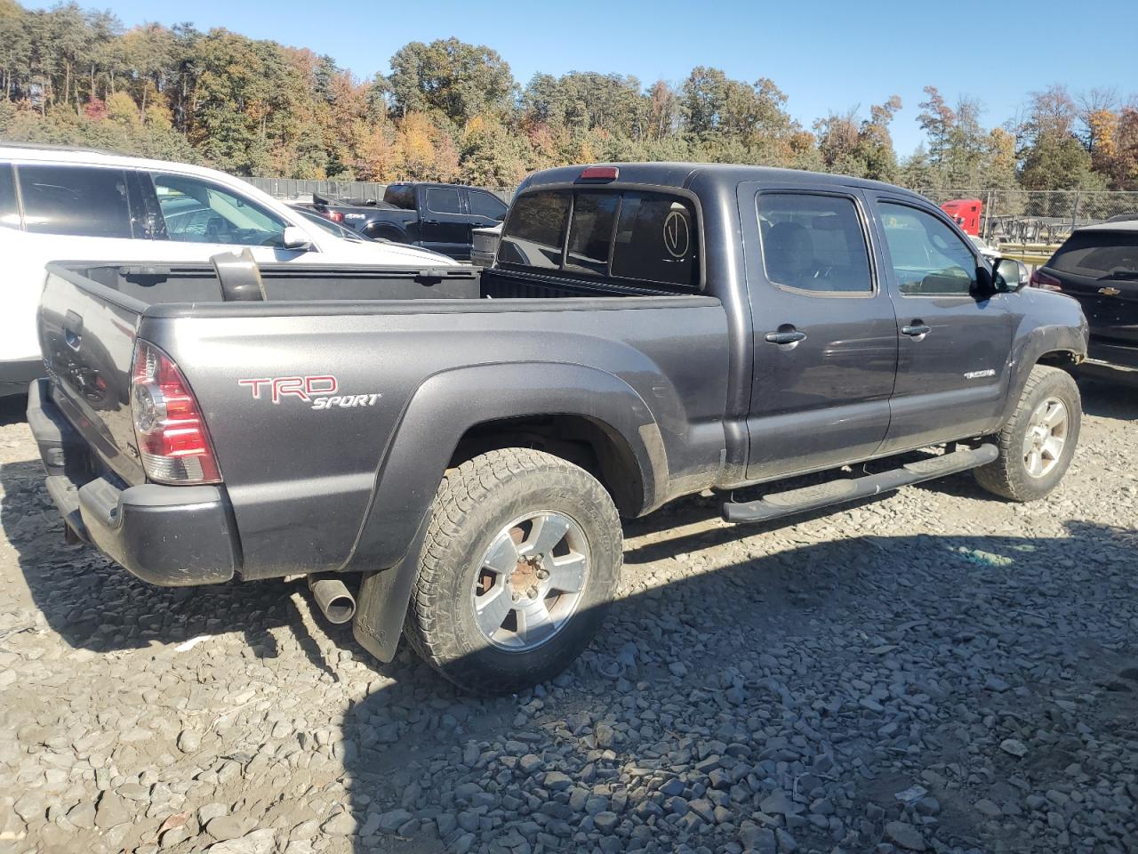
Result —
[[972, 251], [937, 216], [881, 205], [890, 263], [902, 296], [967, 296], [976, 284]]

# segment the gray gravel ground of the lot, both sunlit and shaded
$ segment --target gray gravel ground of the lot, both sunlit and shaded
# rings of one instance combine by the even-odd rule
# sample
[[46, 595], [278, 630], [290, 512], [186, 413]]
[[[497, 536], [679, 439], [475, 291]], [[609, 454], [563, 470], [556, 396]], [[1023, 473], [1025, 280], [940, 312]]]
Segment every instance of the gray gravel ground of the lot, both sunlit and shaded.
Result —
[[0, 849], [1138, 852], [1138, 394], [1052, 500], [967, 476], [632, 523], [567, 674], [371, 660], [298, 583], [162, 590], [66, 545], [0, 426]]

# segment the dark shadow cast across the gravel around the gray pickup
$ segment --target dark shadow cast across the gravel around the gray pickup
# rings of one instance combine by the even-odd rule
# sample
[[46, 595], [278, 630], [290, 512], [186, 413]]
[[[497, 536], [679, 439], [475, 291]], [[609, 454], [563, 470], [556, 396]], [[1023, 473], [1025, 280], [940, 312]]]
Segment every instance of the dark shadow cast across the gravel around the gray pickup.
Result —
[[[898, 837], [939, 851], [1073, 849], [1066, 828], [1083, 807], [1072, 791], [1106, 786], [1131, 807], [1138, 797], [1125, 788], [1135, 763], [1119, 759], [1138, 741], [1133, 531], [1069, 523], [1055, 540], [803, 545], [783, 529], [791, 520], [772, 532], [777, 549], [685, 553], [762, 533], [753, 527], [650, 544], [629, 563], [655, 563], [635, 570], [570, 671], [487, 699], [456, 693], [405, 648], [390, 665], [369, 658], [347, 627], [312, 621], [300, 584], [149, 586], [63, 543], [39, 461], [6, 465], [0, 481], [34, 603], [72, 647], [239, 631], [251, 655], [273, 658], [287, 629], [322, 678], [365, 680], [362, 698], [329, 712], [346, 799], [288, 816], [290, 828], [335, 827], [322, 832], [343, 845], [322, 851], [868, 851]], [[717, 509], [690, 499], [663, 522]], [[628, 533], [657, 529], [640, 525]], [[1023, 755], [1001, 748], [1009, 739]], [[912, 786], [924, 794], [899, 802]], [[1067, 798], [1062, 830], [1054, 808], [1022, 807], [1046, 791]], [[1099, 827], [1120, 851], [1138, 834], [1132, 810]]]

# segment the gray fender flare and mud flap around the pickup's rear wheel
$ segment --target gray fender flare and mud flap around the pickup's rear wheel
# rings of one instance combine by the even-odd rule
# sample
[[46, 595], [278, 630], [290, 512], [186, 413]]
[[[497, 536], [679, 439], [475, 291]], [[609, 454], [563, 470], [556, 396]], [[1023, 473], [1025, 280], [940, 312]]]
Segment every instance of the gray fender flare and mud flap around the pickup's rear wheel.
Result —
[[[479, 424], [530, 416], [587, 418], [621, 441], [638, 469], [644, 507], [662, 503], [667, 457], [659, 427], [632, 386], [596, 368], [525, 362], [436, 373], [407, 403], [345, 569], [377, 569], [360, 588], [354, 632], [380, 660], [395, 656], [430, 506], [460, 438]], [[382, 568], [387, 567], [387, 568]]]

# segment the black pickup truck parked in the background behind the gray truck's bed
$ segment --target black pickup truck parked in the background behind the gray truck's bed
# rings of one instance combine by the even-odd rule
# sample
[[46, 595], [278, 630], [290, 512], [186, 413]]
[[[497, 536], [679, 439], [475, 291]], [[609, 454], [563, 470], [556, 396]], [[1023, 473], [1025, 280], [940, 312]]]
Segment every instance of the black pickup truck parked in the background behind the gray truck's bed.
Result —
[[489, 190], [451, 183], [391, 183], [381, 202], [313, 196], [312, 208], [365, 237], [470, 258], [471, 230], [496, 225], [506, 205]]

